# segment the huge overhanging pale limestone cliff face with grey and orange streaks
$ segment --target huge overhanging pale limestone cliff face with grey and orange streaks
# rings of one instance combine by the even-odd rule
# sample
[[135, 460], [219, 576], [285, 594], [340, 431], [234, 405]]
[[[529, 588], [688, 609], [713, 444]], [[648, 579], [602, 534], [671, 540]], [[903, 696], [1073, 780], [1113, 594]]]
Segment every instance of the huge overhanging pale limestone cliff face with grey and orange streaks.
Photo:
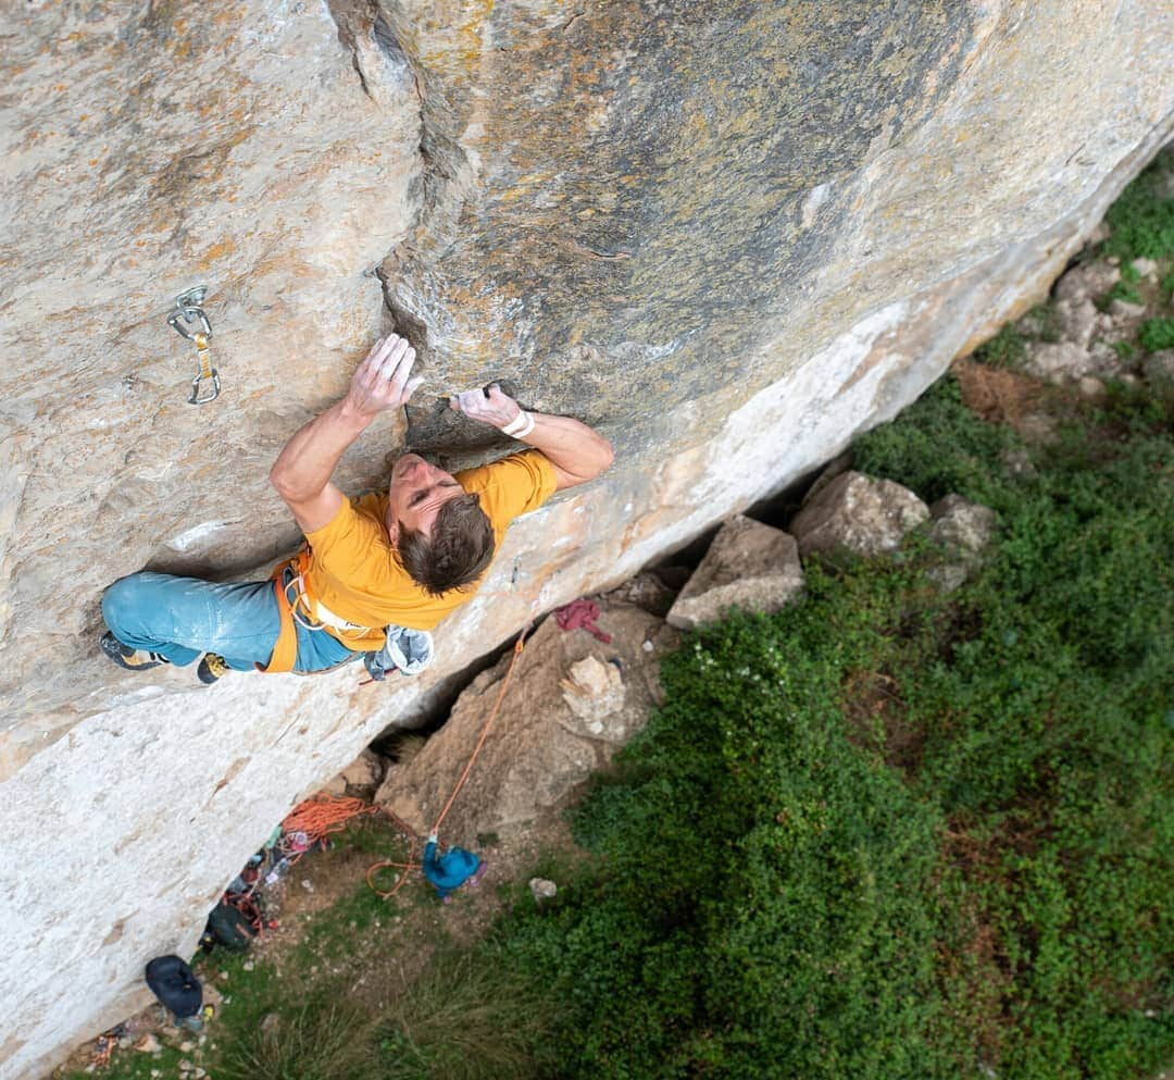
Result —
[[[143, 957], [190, 952], [285, 811], [474, 656], [783, 489], [1026, 310], [1172, 130], [1161, 0], [11, 7], [2, 1080], [134, 1012]], [[203, 407], [166, 320], [194, 284]], [[417, 683], [201, 689], [99, 656], [109, 582], [296, 543], [266, 472], [392, 327], [427, 382], [345, 490], [405, 430], [450, 465], [501, 447], [443, 407], [490, 378], [600, 424], [616, 465], [513, 526]]]

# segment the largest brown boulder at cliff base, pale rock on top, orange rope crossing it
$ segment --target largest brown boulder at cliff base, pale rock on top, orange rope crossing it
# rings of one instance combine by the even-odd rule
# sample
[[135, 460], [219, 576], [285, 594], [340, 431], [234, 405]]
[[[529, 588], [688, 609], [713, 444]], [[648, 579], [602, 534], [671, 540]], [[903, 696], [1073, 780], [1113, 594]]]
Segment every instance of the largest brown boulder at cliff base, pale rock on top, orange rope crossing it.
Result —
[[[630, 604], [606, 608], [589, 633], [546, 619], [527, 642], [468, 782], [445, 823], [445, 839], [473, 844], [478, 833], [524, 830], [560, 805], [647, 720], [656, 700], [661, 657], [677, 631]], [[652, 643], [652, 649], [646, 649]], [[488, 719], [513, 653], [481, 672], [444, 726], [411, 762], [397, 765], [376, 794], [426, 832], [448, 798]]]

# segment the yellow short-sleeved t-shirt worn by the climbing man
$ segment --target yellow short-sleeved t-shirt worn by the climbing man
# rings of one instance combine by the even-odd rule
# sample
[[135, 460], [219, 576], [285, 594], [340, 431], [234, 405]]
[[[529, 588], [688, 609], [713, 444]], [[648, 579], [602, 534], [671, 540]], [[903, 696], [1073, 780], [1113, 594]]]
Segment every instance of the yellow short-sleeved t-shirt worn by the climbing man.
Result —
[[[539, 450], [512, 454], [501, 461], [456, 474], [466, 491], [480, 495], [481, 509], [493, 525], [494, 546], [515, 517], [538, 509], [554, 494], [554, 467]], [[310, 595], [333, 615], [360, 626], [389, 623], [431, 630], [481, 586], [483, 575], [464, 590], [431, 596], [409, 576], [384, 525], [386, 492], [372, 491], [344, 501], [330, 524], [305, 535], [310, 543], [306, 572]], [[333, 632], [333, 631], [332, 631]], [[382, 629], [336, 632], [356, 650], [383, 648]]]

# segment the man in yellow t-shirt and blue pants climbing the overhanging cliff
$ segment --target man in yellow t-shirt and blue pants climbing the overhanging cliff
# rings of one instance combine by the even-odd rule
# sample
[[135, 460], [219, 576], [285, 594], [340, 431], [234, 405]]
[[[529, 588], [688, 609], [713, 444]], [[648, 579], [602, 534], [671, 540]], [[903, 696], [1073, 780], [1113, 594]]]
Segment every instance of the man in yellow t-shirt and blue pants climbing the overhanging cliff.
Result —
[[456, 475], [405, 452], [386, 494], [349, 499], [330, 477], [346, 448], [421, 378], [416, 350], [378, 341], [346, 396], [297, 431], [269, 474], [306, 538], [269, 582], [217, 584], [133, 573], [102, 597], [103, 652], [131, 671], [191, 664], [202, 683], [227, 671], [328, 671], [363, 657], [376, 678], [414, 673], [431, 631], [480, 586], [508, 524], [555, 491], [594, 478], [612, 447], [567, 416], [526, 412], [495, 383], [450, 408], [529, 444]]

